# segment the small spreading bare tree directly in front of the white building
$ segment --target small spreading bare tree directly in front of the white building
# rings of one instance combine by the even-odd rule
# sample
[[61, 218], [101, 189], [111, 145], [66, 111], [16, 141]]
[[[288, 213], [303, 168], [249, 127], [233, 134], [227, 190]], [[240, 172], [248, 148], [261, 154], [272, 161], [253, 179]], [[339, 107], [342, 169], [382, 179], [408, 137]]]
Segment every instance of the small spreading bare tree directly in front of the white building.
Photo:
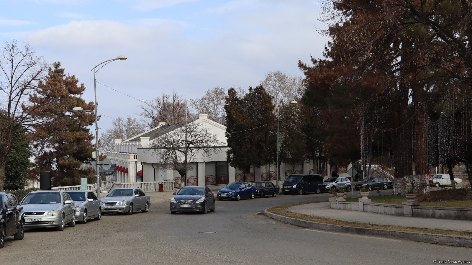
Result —
[[192, 169], [187, 162], [196, 161], [197, 155], [209, 158], [218, 150], [213, 148], [216, 143], [217, 137], [199, 121], [194, 121], [152, 140], [148, 150], [155, 154], [160, 167], [176, 170], [182, 182], [187, 183], [185, 172]]

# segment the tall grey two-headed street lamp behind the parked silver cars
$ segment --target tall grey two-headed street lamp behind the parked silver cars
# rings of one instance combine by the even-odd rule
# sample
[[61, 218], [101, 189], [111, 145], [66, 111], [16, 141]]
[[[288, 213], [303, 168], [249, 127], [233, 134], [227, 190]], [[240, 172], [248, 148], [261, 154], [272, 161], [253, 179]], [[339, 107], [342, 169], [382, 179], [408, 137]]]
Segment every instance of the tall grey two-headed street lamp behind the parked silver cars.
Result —
[[[98, 153], [98, 105], [97, 105], [97, 72], [100, 70], [102, 67], [105, 65], [109, 64], [112, 61], [115, 60], [126, 60], [128, 57], [126, 55], [118, 55], [117, 58], [102, 61], [101, 63], [97, 64], [94, 68], [92, 68], [91, 71], [93, 71], [93, 90], [95, 93], [95, 110], [89, 111], [89, 110], [84, 110], [82, 107], [75, 107], [72, 109], [74, 112], [95, 112], [95, 172], [97, 173], [97, 197], [100, 199], [100, 159], [99, 159], [99, 153]], [[97, 69], [97, 67], [99, 67]]]

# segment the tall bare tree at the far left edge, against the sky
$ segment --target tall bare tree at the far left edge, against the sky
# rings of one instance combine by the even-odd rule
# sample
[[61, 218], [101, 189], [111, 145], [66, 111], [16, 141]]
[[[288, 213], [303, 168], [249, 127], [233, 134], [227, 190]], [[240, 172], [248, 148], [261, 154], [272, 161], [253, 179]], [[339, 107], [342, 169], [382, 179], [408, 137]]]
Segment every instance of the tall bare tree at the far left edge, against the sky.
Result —
[[36, 57], [28, 44], [22, 47], [17, 41], [4, 44], [0, 56], [0, 105], [5, 114], [0, 123], [0, 191], [3, 191], [5, 167], [13, 139], [31, 131], [32, 126], [49, 120], [40, 118], [38, 113], [41, 111], [38, 110], [51, 102], [43, 100], [33, 104], [30, 101], [33, 97], [40, 97], [36, 90], [47, 67], [44, 59]]

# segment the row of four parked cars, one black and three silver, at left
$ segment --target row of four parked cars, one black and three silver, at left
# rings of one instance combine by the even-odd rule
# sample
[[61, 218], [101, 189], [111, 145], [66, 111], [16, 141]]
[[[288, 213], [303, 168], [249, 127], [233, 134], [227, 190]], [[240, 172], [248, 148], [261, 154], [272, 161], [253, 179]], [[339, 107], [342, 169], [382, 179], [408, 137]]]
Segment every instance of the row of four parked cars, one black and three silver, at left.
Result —
[[118, 188], [99, 199], [90, 190], [35, 190], [26, 194], [21, 203], [13, 194], [0, 192], [0, 248], [6, 238], [21, 240], [25, 228], [74, 227], [89, 219], [100, 220], [105, 212], [133, 214], [149, 211], [151, 199], [139, 188]]

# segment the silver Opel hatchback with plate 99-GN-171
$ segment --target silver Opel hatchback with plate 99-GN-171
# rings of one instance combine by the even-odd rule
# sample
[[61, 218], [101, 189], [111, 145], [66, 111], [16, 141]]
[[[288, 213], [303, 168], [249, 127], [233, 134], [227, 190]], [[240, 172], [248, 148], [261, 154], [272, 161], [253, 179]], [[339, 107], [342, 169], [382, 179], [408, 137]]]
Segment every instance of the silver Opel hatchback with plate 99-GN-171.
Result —
[[63, 190], [35, 190], [28, 193], [21, 205], [25, 210], [25, 227], [56, 227], [76, 225], [74, 201]]

